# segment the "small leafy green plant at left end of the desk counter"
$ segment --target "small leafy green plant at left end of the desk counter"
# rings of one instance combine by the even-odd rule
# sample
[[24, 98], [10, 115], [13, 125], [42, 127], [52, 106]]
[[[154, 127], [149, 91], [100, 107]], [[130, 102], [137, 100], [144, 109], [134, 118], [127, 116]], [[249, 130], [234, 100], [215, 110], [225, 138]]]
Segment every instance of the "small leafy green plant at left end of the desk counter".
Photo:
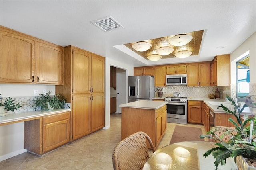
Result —
[[3, 101], [3, 97], [2, 94], [0, 94], [0, 116], [5, 116], [7, 115], [6, 111], [14, 111], [14, 110], [18, 110], [20, 107], [22, 107], [20, 105], [20, 103], [18, 102], [17, 104], [14, 103], [14, 99], [8, 97], [6, 98], [6, 100], [4, 102]]

